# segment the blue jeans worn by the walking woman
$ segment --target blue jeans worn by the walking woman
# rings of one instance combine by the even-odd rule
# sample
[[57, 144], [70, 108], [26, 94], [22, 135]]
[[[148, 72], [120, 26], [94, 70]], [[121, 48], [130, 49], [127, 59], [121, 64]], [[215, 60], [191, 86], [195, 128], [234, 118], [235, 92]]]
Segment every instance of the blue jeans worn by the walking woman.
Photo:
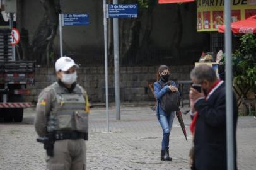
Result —
[[169, 149], [169, 137], [172, 130], [172, 123], [175, 116], [175, 112], [170, 113], [170, 115], [157, 114], [158, 121], [163, 129], [163, 139], [162, 139], [162, 149]]

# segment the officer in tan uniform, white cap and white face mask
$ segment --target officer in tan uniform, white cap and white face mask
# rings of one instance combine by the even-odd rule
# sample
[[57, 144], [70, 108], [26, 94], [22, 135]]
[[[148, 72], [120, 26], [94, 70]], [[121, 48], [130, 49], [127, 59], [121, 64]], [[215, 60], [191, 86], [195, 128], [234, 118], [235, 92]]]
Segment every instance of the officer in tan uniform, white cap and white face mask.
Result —
[[88, 96], [76, 84], [75, 64], [70, 57], [55, 63], [58, 81], [38, 96], [35, 130], [47, 150], [47, 169], [84, 170], [88, 139]]

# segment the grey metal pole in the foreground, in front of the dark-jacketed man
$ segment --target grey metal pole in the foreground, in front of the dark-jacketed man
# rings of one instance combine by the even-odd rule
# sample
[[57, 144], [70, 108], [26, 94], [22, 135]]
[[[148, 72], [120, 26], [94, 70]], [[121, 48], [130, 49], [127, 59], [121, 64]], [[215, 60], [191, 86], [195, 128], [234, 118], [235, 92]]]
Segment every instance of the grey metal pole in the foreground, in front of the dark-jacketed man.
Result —
[[226, 145], [228, 170], [234, 170], [233, 136], [233, 92], [232, 92], [232, 39], [231, 39], [231, 1], [224, 1], [225, 12], [225, 51], [226, 51]]

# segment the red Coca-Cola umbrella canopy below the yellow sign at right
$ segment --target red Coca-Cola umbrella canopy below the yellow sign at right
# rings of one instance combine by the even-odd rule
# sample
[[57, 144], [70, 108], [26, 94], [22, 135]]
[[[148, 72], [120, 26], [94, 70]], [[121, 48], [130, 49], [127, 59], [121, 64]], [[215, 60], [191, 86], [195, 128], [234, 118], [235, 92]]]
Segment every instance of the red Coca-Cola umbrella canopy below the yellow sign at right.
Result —
[[[256, 15], [246, 20], [231, 23], [231, 28], [233, 33], [256, 33]], [[219, 26], [218, 31], [224, 33], [225, 26]]]

